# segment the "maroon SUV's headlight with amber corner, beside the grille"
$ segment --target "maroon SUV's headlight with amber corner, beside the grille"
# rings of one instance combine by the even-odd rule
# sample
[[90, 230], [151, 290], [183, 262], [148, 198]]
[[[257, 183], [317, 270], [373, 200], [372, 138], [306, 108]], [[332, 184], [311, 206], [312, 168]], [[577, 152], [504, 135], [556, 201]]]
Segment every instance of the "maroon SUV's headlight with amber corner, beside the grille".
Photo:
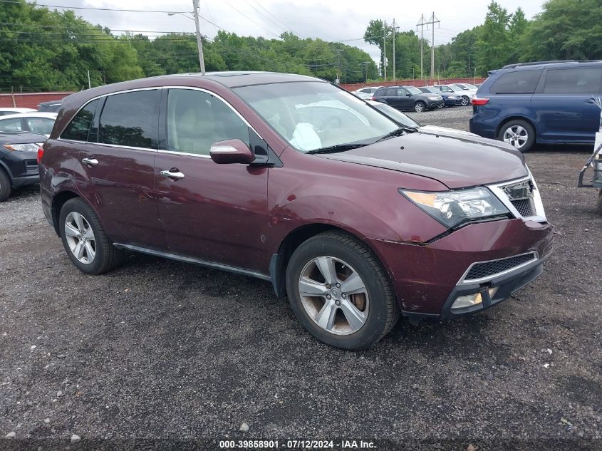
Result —
[[504, 204], [485, 187], [445, 192], [400, 189], [399, 192], [450, 229], [471, 219], [509, 214]]

